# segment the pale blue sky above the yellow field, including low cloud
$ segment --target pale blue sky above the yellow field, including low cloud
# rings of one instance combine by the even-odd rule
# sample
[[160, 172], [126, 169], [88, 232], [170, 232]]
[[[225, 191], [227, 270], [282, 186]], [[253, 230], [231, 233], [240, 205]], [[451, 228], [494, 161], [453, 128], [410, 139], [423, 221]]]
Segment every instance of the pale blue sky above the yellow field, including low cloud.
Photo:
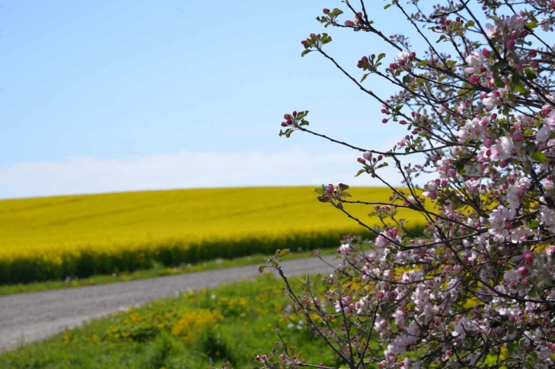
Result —
[[[382, 1], [377, 27], [395, 29]], [[340, 1], [1, 1], [0, 197], [221, 186], [318, 185], [353, 178], [357, 153], [306, 134], [279, 138], [282, 115], [375, 149], [404, 131], [329, 62], [300, 57], [314, 19]], [[345, 19], [347, 19], [345, 17]], [[328, 28], [327, 50], [393, 52]], [[389, 96], [386, 84], [368, 87]]]

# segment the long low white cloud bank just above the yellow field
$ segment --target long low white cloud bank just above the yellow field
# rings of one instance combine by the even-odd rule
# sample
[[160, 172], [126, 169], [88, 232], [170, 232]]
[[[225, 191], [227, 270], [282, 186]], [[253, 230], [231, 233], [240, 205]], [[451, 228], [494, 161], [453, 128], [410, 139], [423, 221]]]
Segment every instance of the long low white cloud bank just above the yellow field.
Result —
[[[344, 182], [381, 186], [368, 175], [355, 178], [357, 153], [305, 150], [265, 153], [178, 152], [131, 159], [72, 157], [0, 168], [0, 197], [231, 186], [318, 186]], [[382, 175], [400, 181], [391, 167]]]

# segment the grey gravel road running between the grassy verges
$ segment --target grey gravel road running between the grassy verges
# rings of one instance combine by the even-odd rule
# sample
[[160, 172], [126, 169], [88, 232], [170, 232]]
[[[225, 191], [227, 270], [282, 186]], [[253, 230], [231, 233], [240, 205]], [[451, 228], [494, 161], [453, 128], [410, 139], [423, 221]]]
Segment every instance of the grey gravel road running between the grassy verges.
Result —
[[[333, 255], [324, 259], [332, 263]], [[336, 264], [336, 262], [333, 262]], [[283, 262], [287, 276], [330, 273], [316, 258]], [[257, 265], [0, 297], [0, 352], [40, 341], [123, 307], [259, 276]]]

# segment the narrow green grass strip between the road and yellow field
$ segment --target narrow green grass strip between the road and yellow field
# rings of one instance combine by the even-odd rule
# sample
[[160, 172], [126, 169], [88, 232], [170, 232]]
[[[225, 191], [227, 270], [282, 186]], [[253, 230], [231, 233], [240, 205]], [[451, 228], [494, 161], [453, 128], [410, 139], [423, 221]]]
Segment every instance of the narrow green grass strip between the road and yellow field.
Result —
[[[335, 249], [321, 250], [321, 255], [334, 254]], [[308, 258], [311, 251], [291, 251], [287, 255], [288, 260]], [[141, 269], [131, 273], [120, 273], [113, 275], [90, 276], [87, 278], [68, 278], [67, 280], [53, 280], [47, 282], [19, 283], [17, 285], [0, 285], [0, 296], [26, 294], [30, 292], [49, 291], [51, 289], [66, 289], [74, 287], [85, 287], [93, 285], [104, 285], [106, 283], [126, 282], [129, 280], [139, 280], [155, 278], [161, 276], [172, 276], [176, 274], [194, 273], [197, 271], [210, 271], [215, 269], [225, 269], [233, 267], [244, 267], [246, 265], [261, 265], [268, 260], [267, 255], [255, 254], [233, 259], [207, 260], [198, 264], [180, 264], [177, 267], [164, 267], [156, 264], [152, 269]]]

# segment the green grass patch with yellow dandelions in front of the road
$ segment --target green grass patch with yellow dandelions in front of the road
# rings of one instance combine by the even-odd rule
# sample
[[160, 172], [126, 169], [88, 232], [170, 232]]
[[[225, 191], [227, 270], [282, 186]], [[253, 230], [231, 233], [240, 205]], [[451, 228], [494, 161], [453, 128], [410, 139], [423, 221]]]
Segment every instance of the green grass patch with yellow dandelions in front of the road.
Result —
[[[253, 368], [253, 355], [268, 353], [278, 341], [275, 327], [303, 357], [333, 366], [321, 340], [288, 327], [282, 311], [289, 297], [282, 287], [273, 276], [262, 276], [155, 301], [0, 354], [0, 368], [192, 369], [218, 367], [226, 360], [234, 368]], [[207, 312], [223, 319], [202, 327], [199, 322]], [[194, 317], [198, 328], [176, 335], [184, 315]]]

